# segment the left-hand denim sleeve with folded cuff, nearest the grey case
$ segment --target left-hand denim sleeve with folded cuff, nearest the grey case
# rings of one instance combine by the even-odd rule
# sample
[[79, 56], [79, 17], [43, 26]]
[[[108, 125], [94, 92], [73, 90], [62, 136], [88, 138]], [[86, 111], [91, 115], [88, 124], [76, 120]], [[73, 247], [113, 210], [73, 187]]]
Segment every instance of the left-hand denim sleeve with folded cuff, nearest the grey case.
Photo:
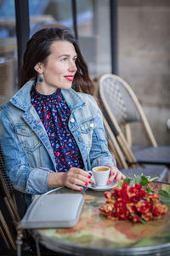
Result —
[[48, 174], [52, 172], [28, 165], [9, 118], [0, 112], [0, 142], [6, 172], [15, 189], [23, 193], [42, 194], [48, 191]]

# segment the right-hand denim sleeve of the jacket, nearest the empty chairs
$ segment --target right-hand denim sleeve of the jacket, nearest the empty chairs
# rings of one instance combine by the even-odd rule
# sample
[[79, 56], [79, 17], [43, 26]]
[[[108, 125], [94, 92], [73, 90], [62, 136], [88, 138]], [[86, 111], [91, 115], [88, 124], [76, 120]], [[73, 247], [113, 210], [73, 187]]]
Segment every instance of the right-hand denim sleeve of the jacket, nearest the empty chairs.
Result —
[[92, 168], [94, 166], [111, 165], [116, 166], [116, 160], [111, 155], [107, 140], [105, 139], [105, 128], [103, 125], [102, 113], [97, 108], [95, 113], [95, 128], [92, 135], [92, 148], [90, 150], [90, 161]]

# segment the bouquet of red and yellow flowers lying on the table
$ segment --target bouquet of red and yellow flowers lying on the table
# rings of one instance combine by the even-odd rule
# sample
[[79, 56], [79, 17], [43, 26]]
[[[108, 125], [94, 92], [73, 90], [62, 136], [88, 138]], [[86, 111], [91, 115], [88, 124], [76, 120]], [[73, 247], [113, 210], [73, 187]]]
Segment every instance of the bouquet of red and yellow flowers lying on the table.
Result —
[[106, 218], [128, 219], [133, 223], [161, 218], [167, 212], [167, 206], [161, 204], [160, 195], [167, 192], [161, 190], [162, 193], [158, 195], [145, 187], [152, 180], [143, 175], [134, 179], [126, 178], [118, 188], [105, 192], [105, 205], [100, 206], [99, 211]]

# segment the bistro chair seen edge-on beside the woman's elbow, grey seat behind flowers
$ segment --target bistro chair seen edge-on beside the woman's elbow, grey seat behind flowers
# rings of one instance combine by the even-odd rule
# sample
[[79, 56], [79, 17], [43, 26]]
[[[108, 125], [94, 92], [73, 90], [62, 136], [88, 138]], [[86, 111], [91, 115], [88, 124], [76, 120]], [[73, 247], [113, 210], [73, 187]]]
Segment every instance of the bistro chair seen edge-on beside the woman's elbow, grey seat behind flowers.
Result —
[[156, 181], [166, 181], [167, 180], [167, 167], [166, 166], [127, 166], [124, 154], [116, 141], [116, 137], [111, 130], [110, 125], [108, 125], [105, 116], [103, 116], [103, 121], [105, 125], [106, 138], [108, 141], [108, 146], [111, 154], [115, 157], [117, 167], [126, 177], [133, 177], [135, 175], [144, 174], [144, 176], [158, 177]]

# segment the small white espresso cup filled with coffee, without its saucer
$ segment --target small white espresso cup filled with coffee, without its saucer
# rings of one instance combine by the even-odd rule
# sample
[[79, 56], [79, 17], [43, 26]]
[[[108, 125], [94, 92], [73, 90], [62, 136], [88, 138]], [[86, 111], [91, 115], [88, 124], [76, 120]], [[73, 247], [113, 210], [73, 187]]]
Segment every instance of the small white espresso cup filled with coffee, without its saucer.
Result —
[[95, 186], [107, 185], [111, 168], [108, 166], [96, 166], [92, 169], [92, 177], [94, 179]]

